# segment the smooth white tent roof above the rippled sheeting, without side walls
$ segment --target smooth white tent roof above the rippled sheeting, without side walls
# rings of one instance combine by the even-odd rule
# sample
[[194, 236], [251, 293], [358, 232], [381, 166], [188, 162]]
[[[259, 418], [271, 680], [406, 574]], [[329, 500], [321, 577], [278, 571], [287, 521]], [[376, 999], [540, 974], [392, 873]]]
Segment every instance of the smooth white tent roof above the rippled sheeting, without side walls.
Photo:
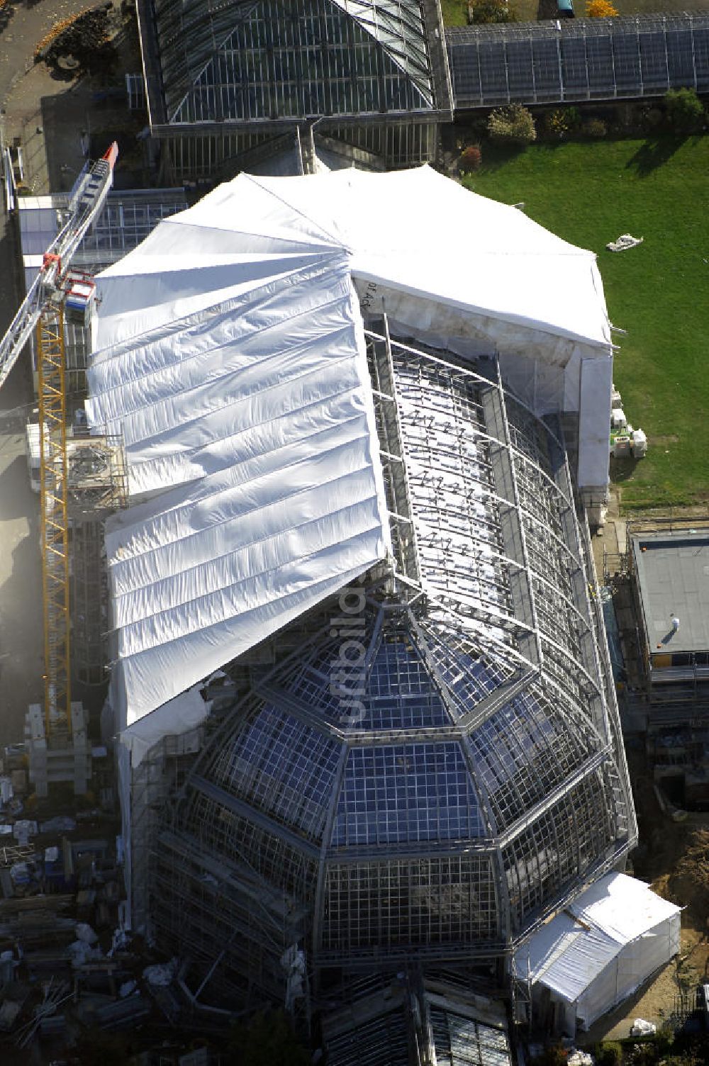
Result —
[[[398, 293], [396, 317], [413, 326], [456, 334], [477, 320], [502, 346], [506, 324], [542, 332], [547, 343], [550, 335], [608, 354], [594, 253], [428, 166], [295, 178], [241, 174], [161, 223], [101, 275], [95, 346], [208, 306], [217, 292], [248, 287], [257, 273], [276, 275], [290, 257], [334, 249], [347, 251], [359, 282], [384, 287], [390, 298]], [[404, 295], [425, 298], [424, 319], [421, 305]], [[559, 361], [569, 351], [558, 353]]]

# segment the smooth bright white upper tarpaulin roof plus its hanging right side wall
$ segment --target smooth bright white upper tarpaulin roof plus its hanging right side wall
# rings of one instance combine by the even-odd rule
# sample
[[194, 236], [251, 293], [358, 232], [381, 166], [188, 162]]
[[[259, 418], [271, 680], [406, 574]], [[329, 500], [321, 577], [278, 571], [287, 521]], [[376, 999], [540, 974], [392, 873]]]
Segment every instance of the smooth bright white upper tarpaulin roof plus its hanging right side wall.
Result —
[[[596, 256], [428, 166], [239, 175], [99, 276], [94, 350], [113, 349], [109, 362], [123, 352], [125, 366], [131, 344], [114, 345], [140, 346], [146, 333], [333, 254], [345, 256], [362, 306], [386, 306], [400, 332], [495, 351], [513, 388], [533, 379], [525, 398], [536, 414], [580, 411], [579, 485], [605, 498], [612, 346]], [[581, 387], [587, 361], [605, 365], [593, 388], [590, 376]], [[112, 387], [106, 370], [92, 388]], [[120, 403], [94, 410], [97, 425], [120, 414]]]

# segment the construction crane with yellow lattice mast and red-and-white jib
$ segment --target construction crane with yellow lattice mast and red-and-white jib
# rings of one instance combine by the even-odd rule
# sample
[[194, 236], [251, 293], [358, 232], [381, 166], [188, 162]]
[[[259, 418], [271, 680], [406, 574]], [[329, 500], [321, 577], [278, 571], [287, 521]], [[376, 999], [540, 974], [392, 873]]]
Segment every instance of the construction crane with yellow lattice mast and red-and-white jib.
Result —
[[[70, 685], [68, 462], [66, 432], [66, 360], [64, 352], [64, 285], [67, 269], [88, 227], [101, 210], [113, 183], [118, 147], [114, 142], [91, 168], [86, 167], [69, 200], [64, 224], [44, 255], [42, 270], [22, 305], [0, 340], [0, 387], [5, 382], [33, 330], [36, 340], [39, 449], [41, 531], [44, 611], [44, 713], [30, 708], [28, 728], [31, 743], [42, 753], [46, 770], [52, 749], [65, 754], [62, 765], [72, 763], [72, 711]], [[38, 708], [36, 708], [38, 711]], [[85, 749], [85, 737], [82, 740]], [[58, 765], [60, 763], [58, 762]], [[59, 775], [62, 778], [60, 765]], [[37, 792], [46, 792], [44, 787]], [[75, 787], [79, 790], [76, 785]]]

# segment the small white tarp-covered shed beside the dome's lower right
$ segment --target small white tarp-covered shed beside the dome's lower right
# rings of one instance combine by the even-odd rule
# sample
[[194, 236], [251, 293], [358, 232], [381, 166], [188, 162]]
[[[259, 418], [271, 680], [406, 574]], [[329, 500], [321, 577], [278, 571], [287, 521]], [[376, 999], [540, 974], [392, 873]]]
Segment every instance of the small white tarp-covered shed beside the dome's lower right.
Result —
[[610, 873], [515, 955], [517, 974], [576, 1006], [577, 1023], [630, 996], [679, 951], [680, 908], [643, 882]]

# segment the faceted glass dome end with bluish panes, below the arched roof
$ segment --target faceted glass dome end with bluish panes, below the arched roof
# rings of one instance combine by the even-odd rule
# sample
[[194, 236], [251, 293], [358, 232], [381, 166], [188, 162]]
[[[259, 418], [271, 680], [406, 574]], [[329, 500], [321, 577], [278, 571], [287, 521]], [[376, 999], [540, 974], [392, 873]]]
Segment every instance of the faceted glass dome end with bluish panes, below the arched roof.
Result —
[[356, 663], [326, 631], [254, 684], [180, 827], [312, 908], [322, 964], [503, 950], [625, 841], [612, 752], [449, 619], [370, 598], [355, 620]]

